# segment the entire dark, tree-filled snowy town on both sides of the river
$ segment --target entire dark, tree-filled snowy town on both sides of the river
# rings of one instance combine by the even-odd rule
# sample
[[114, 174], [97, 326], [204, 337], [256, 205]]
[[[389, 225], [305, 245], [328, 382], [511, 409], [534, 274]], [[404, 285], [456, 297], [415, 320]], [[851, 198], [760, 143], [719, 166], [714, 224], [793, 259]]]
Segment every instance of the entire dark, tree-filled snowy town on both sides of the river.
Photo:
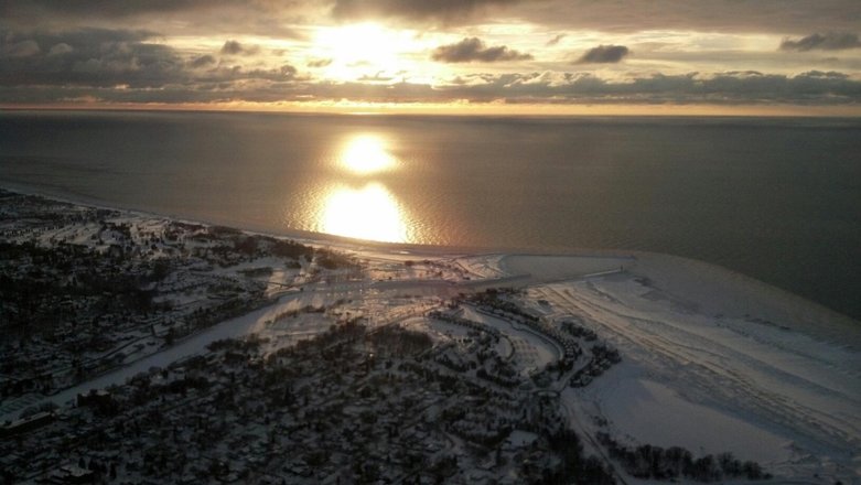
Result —
[[581, 434], [599, 419], [579, 433], [563, 394], [623, 355], [487, 258], [383, 258], [8, 192], [0, 224], [7, 483], [768, 476]]

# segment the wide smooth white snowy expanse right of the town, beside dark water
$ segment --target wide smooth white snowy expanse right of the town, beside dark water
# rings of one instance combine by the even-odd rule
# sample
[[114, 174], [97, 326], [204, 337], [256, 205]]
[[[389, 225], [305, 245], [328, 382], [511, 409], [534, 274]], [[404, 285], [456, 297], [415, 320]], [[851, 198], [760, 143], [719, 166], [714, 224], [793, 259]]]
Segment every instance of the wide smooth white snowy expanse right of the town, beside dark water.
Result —
[[696, 261], [638, 255], [622, 272], [567, 281], [560, 259], [541, 262], [555, 282], [530, 293], [623, 356], [566, 392], [582, 425], [605, 420], [634, 444], [729, 451], [784, 479], [859, 479], [860, 326]]

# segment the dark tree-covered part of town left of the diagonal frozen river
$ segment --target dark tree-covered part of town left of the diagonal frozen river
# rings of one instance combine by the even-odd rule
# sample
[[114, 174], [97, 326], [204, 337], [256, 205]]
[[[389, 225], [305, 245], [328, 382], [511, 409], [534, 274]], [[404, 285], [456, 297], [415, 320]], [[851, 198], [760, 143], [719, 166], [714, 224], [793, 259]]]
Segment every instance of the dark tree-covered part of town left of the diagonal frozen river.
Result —
[[[0, 201], [3, 398], [86, 380], [313, 282], [322, 267], [349, 265], [235, 229]], [[260, 260], [276, 268], [251, 263]]]

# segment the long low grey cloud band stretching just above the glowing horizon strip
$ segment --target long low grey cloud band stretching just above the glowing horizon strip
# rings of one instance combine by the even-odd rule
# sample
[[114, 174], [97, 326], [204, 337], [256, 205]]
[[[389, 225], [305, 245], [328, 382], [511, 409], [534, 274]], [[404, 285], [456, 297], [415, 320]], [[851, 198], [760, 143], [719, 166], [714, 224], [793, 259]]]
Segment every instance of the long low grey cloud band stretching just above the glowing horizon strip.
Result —
[[[68, 82], [28, 74], [31, 84], [8, 78], [0, 63], [0, 103], [54, 103], [87, 98], [104, 103], [336, 101], [506, 104], [639, 104], [639, 105], [861, 105], [861, 82], [840, 72], [809, 71], [795, 76], [753, 71], [680, 75], [653, 74], [603, 78], [590, 73], [474, 73], [439, 84], [389, 82], [381, 75], [368, 82], [327, 82], [302, 77], [295, 67], [246, 71], [241, 66], [205, 72], [150, 69]], [[160, 80], [155, 80], [157, 77]], [[85, 82], [86, 80], [86, 82]], [[110, 83], [123, 82], [122, 89]], [[368, 78], [370, 80], [370, 77]], [[158, 89], [152, 88], [158, 86]]]

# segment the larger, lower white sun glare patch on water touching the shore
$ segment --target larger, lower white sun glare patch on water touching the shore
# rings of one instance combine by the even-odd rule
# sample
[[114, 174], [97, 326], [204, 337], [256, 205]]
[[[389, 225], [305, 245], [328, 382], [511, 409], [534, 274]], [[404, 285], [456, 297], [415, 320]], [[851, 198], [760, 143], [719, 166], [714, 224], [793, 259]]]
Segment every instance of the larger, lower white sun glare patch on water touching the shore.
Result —
[[318, 222], [323, 233], [356, 239], [405, 242], [408, 230], [403, 209], [381, 184], [360, 188], [340, 184], [323, 198]]

